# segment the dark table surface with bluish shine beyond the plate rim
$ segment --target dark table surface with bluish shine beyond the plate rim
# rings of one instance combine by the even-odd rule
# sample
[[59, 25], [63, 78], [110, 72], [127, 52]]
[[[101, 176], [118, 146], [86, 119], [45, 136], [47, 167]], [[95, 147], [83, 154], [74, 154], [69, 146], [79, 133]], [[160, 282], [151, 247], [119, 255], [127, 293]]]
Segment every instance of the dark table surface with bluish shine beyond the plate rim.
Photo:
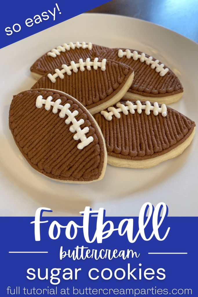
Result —
[[197, 0], [112, 0], [89, 12], [147, 20], [198, 42]]

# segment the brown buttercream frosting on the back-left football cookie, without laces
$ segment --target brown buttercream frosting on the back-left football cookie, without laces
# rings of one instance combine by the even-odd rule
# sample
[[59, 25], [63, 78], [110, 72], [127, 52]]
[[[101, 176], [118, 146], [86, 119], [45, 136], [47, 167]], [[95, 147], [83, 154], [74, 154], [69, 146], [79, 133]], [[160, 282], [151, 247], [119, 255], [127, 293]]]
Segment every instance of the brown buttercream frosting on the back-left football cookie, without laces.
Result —
[[92, 53], [97, 50], [107, 49], [101, 45], [92, 45], [92, 50], [88, 48], [75, 48], [74, 50], [66, 50], [65, 52], [60, 52], [60, 55], [57, 55], [55, 58], [47, 56], [45, 53], [40, 57], [34, 64], [31, 66], [30, 71], [44, 75], [48, 71], [61, 66], [62, 64], [67, 64], [70, 61], [77, 61], [80, 58], [85, 59], [91, 57]]

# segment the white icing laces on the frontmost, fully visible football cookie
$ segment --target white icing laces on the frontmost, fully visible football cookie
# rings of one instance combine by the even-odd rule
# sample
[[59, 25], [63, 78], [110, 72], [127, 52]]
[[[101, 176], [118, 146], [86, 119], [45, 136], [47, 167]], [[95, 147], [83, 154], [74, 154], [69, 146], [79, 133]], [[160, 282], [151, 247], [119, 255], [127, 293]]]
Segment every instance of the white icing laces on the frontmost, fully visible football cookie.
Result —
[[52, 112], [53, 113], [57, 113], [58, 109], [60, 109], [60, 113], [59, 116], [60, 118], [64, 118], [65, 115], [68, 116], [68, 118], [65, 120], [65, 124], [69, 125], [72, 122], [72, 126], [69, 127], [69, 131], [74, 133], [77, 132], [73, 138], [75, 140], [81, 140], [81, 143], [78, 143], [77, 148], [78, 149], [83, 149], [85, 146], [88, 146], [89, 143], [91, 143], [94, 138], [92, 136], [89, 136], [88, 138], [86, 138], [85, 133], [89, 132], [89, 128], [85, 127], [81, 130], [80, 125], [84, 124], [84, 120], [80, 119], [79, 121], [77, 121], [75, 119], [75, 116], [78, 115], [78, 111], [74, 110], [73, 112], [71, 112], [69, 110], [70, 108], [70, 104], [66, 103], [64, 106], [60, 105], [61, 103], [61, 99], [57, 99], [55, 102], [52, 102], [52, 96], [47, 97], [47, 99], [43, 99], [43, 97], [41, 95], [39, 95], [37, 97], [36, 100], [36, 107], [37, 108], [42, 108], [43, 104], [45, 104], [45, 109], [46, 110], [50, 110], [50, 107], [53, 106]]

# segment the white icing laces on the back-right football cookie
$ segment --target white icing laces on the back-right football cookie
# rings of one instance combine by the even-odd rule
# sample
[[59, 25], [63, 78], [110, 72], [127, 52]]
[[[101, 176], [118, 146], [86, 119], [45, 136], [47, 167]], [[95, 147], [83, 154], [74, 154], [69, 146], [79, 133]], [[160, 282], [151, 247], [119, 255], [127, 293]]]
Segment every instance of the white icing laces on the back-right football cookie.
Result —
[[133, 58], [134, 60], [140, 59], [140, 62], [146, 62], [147, 65], [151, 65], [151, 68], [155, 69], [156, 72], [159, 72], [160, 76], [164, 76], [169, 69], [165, 68], [164, 69], [164, 64], [159, 64], [159, 60], [153, 61], [153, 57], [146, 57], [145, 53], [141, 53], [139, 55], [136, 50], [131, 52], [130, 50], [126, 50], [123, 52], [123, 50], [118, 50], [118, 57], [122, 58], [123, 56], [126, 56], [127, 59]]

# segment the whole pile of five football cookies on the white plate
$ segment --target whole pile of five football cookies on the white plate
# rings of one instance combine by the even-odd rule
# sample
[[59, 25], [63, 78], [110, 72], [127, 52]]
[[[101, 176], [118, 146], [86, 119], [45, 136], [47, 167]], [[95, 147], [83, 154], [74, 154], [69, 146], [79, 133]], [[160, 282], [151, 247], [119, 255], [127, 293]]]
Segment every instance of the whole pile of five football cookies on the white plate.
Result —
[[149, 168], [194, 136], [194, 121], [167, 107], [183, 94], [178, 77], [140, 51], [65, 43], [31, 74], [37, 82], [13, 97], [9, 127], [29, 164], [55, 180], [98, 181], [107, 163]]

